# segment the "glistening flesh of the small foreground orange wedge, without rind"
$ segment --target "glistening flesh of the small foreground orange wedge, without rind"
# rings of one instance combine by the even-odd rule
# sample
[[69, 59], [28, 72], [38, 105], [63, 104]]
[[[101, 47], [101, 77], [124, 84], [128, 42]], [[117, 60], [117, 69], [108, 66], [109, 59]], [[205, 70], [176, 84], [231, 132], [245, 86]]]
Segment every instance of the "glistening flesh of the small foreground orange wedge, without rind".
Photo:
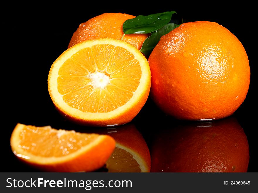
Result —
[[97, 137], [99, 137], [97, 134], [56, 130], [49, 126], [26, 126], [19, 135], [19, 147], [36, 156], [62, 157], [76, 152]]

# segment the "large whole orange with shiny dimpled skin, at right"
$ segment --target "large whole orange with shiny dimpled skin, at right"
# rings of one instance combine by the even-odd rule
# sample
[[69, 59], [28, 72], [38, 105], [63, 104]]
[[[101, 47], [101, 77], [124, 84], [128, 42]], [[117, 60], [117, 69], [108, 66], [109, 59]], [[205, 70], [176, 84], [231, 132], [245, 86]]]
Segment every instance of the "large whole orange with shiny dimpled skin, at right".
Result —
[[175, 118], [225, 118], [247, 95], [250, 67], [245, 49], [217, 23], [182, 24], [162, 36], [148, 61], [152, 99]]

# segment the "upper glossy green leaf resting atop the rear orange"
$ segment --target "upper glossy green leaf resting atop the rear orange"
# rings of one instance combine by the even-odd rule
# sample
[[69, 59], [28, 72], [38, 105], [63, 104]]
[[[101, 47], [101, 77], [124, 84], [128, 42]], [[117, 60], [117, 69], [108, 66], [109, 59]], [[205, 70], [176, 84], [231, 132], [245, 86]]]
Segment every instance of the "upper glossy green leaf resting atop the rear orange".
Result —
[[133, 19], [128, 19], [123, 23], [123, 32], [125, 34], [151, 33], [169, 23], [174, 13], [176, 12], [167, 11], [148, 16], [139, 15]]

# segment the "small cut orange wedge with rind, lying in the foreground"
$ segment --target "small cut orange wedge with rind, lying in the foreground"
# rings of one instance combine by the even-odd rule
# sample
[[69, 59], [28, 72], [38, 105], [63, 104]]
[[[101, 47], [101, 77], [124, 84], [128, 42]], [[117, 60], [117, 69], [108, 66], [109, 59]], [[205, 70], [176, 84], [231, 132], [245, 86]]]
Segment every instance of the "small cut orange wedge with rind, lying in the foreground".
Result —
[[21, 160], [50, 172], [90, 172], [102, 167], [115, 148], [108, 135], [17, 124], [11, 149]]

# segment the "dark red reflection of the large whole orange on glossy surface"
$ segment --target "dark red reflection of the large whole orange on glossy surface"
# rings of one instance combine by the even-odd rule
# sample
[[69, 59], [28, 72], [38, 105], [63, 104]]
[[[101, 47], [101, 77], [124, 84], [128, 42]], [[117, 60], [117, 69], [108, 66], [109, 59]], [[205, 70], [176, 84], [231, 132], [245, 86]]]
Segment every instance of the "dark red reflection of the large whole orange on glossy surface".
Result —
[[155, 134], [151, 172], [247, 172], [249, 147], [235, 118], [180, 123]]

